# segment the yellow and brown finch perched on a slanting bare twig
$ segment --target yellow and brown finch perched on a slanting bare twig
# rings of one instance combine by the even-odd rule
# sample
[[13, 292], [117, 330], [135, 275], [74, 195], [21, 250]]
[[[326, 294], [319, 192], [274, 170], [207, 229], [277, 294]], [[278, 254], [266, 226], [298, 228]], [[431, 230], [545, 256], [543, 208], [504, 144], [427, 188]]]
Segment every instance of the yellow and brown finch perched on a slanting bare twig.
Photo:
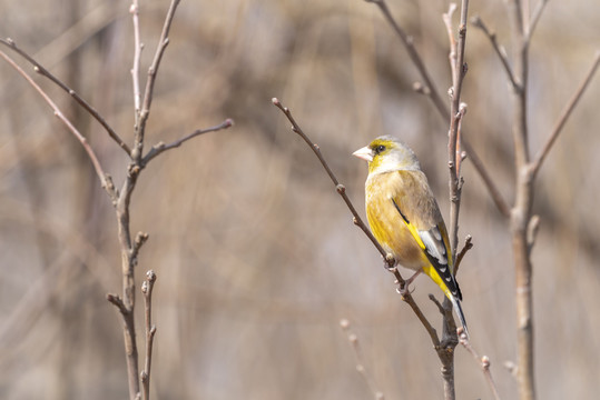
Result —
[[450, 299], [469, 338], [447, 230], [415, 153], [400, 139], [382, 136], [353, 156], [368, 163], [365, 208], [373, 236], [396, 264], [416, 271], [404, 290], [424, 272]]

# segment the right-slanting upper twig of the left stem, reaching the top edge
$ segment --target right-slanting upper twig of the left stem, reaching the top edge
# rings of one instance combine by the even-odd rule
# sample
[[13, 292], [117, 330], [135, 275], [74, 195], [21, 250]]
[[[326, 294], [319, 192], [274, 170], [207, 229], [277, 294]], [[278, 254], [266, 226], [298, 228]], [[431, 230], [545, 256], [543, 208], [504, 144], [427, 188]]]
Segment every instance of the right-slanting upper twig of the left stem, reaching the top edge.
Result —
[[177, 9], [177, 6], [179, 6], [179, 2], [180, 0], [171, 0], [169, 10], [167, 11], [167, 17], [165, 18], [165, 23], [163, 26], [163, 32], [160, 33], [160, 39], [158, 40], [153, 63], [150, 64], [150, 68], [148, 68], [148, 78], [146, 79], [146, 89], [144, 90], [144, 102], [139, 112], [139, 123], [136, 126], [136, 144], [132, 153], [135, 160], [140, 160], [144, 151], [144, 134], [146, 131], [146, 122], [148, 121], [150, 113], [150, 106], [153, 103], [156, 74], [158, 72], [158, 67], [160, 66], [163, 54], [169, 44], [169, 30], [173, 23], [173, 18], [175, 17], [175, 10]]

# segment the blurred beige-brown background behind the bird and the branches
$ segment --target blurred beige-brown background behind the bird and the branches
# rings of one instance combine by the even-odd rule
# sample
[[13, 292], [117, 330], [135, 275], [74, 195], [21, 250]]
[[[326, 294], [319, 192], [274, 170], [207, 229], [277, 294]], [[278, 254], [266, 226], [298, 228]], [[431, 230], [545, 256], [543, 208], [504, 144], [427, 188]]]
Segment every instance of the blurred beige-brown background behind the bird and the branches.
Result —
[[[532, 1], [532, 9], [535, 1]], [[390, 0], [441, 93], [450, 87], [447, 1]], [[129, 143], [132, 24], [127, 1], [1, 0], [10, 37], [88, 99]], [[141, 77], [167, 1], [142, 1]], [[472, 2], [510, 53], [502, 1]], [[455, 19], [458, 16], [455, 16]], [[529, 122], [535, 153], [599, 48], [594, 0], [549, 2], [531, 44]], [[456, 23], [456, 21], [455, 21]], [[32, 69], [8, 51], [26, 70]], [[513, 199], [511, 106], [500, 61], [470, 27], [465, 134]], [[35, 79], [89, 139], [120, 186], [127, 158], [99, 124]], [[421, 159], [447, 220], [447, 121], [415, 93], [417, 72], [378, 9], [361, 0], [184, 1], [160, 66], [147, 148], [233, 118], [142, 172], [131, 230], [150, 236], [137, 268], [158, 281], [155, 399], [368, 399], [340, 320], [387, 399], [440, 399], [431, 341], [393, 277], [352, 223], [318, 161], [271, 103], [289, 107], [361, 213], [366, 166], [351, 153], [383, 133]], [[534, 262], [539, 398], [591, 399], [600, 369], [600, 78], [596, 77], [542, 168]], [[80, 144], [49, 107], [0, 62], [0, 398], [127, 398], [117, 223]], [[490, 357], [504, 399], [517, 382], [513, 268], [508, 221], [469, 161], [460, 238], [473, 237], [459, 281], [473, 347]], [[462, 239], [461, 239], [462, 241]], [[407, 277], [410, 271], [402, 270]], [[432, 323], [426, 278], [414, 297]], [[142, 303], [138, 292], [138, 339]], [[476, 362], [456, 349], [461, 399], [490, 399]]]

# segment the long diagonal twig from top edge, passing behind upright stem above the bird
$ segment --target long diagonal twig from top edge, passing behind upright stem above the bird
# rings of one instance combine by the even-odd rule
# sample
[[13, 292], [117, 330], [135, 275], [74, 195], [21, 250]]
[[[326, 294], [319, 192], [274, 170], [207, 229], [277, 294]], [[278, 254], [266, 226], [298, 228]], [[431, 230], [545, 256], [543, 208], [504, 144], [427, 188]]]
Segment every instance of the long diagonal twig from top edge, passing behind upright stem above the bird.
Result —
[[[433, 102], [433, 106], [442, 117], [444, 121], [447, 121], [450, 119], [450, 110], [447, 109], [444, 100], [440, 96], [440, 92], [437, 88], [433, 84], [433, 81], [431, 79], [431, 76], [425, 67], [425, 63], [421, 59], [421, 56], [416, 51], [414, 47], [414, 40], [411, 36], [406, 34], [402, 27], [394, 20], [394, 17], [392, 16], [390, 8], [387, 7], [386, 2], [384, 0], [365, 0], [366, 2], [375, 3], [380, 10], [382, 11], [385, 20], [390, 23], [390, 26], [394, 29], [399, 38], [401, 39], [404, 48], [409, 52], [409, 57], [411, 61], [414, 63], [416, 70], [421, 74], [421, 79], [424, 81], [423, 84], [419, 84], [420, 92], [426, 94], [431, 101]], [[488, 188], [488, 191], [490, 192], [490, 196], [492, 197], [492, 200], [494, 201], [498, 210], [502, 213], [504, 217], [510, 216], [510, 208], [502, 197], [502, 193], [500, 193], [500, 190], [498, 189], [494, 180], [490, 177], [490, 173], [485, 169], [485, 166], [483, 164], [483, 161], [479, 158], [475, 150], [471, 147], [470, 142], [468, 141], [466, 137], [462, 139], [462, 146], [466, 153], [469, 154], [469, 158], [471, 162], [473, 163], [473, 167], [475, 168], [475, 171], [480, 174], [481, 179], [483, 180], [483, 183]]]

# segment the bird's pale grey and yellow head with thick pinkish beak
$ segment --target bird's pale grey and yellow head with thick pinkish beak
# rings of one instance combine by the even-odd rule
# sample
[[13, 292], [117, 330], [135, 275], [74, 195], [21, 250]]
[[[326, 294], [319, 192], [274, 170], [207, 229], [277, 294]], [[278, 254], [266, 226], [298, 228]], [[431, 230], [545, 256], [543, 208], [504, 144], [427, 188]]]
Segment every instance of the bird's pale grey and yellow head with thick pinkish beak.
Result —
[[391, 136], [378, 137], [368, 146], [353, 152], [353, 156], [368, 162], [370, 174], [421, 170], [414, 152], [400, 139]]

